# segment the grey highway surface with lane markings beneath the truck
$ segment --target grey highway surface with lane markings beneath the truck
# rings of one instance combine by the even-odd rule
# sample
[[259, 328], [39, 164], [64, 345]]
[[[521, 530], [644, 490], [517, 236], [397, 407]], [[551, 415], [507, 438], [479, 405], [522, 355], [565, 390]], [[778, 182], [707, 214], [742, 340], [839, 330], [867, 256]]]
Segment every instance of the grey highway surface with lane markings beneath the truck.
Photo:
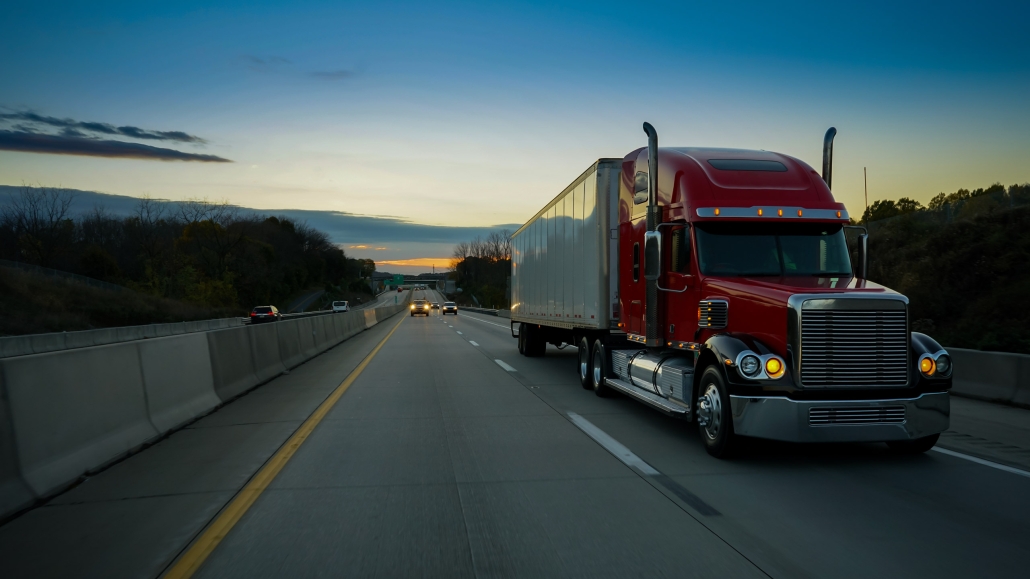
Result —
[[[1008, 470], [882, 444], [718, 461], [692, 425], [584, 390], [576, 355], [520, 356], [505, 318], [399, 314], [0, 526], [0, 574], [1028, 574], [1030, 411], [998, 411], [985, 451]], [[956, 402], [959, 424], [993, 412]]]

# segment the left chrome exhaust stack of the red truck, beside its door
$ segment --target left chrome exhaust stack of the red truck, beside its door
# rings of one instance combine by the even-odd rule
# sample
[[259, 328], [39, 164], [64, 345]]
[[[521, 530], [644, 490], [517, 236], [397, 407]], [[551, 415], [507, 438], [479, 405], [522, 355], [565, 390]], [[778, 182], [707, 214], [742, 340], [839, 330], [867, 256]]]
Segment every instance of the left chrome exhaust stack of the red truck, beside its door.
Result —
[[664, 345], [662, 328], [658, 323], [658, 277], [661, 271], [661, 208], [658, 207], [658, 132], [650, 123], [644, 124], [647, 133], [647, 233], [644, 236], [644, 300], [645, 338], [649, 348]]

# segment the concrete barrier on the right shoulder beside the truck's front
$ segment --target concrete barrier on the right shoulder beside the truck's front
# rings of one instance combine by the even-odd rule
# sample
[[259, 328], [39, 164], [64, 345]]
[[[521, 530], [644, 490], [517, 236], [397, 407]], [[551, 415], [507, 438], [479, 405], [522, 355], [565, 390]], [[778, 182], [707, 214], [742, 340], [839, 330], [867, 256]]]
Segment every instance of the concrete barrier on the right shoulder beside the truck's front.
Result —
[[946, 349], [955, 363], [953, 394], [1030, 407], [1030, 355]]

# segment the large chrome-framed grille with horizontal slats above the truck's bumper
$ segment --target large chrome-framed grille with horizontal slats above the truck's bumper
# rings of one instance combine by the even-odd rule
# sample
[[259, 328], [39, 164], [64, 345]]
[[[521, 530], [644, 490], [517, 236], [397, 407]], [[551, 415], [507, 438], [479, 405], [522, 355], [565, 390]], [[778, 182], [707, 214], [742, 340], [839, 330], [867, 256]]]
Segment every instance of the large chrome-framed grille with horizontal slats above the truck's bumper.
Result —
[[800, 357], [808, 387], [905, 386], [905, 310], [805, 309]]

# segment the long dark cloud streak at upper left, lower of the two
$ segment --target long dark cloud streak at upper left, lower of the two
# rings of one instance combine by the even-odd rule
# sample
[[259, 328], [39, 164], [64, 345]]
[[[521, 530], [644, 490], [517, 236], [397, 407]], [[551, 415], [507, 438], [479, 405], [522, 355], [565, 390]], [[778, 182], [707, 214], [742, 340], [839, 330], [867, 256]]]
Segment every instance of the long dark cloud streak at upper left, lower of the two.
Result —
[[[74, 131], [74, 128], [71, 128]], [[232, 163], [213, 155], [195, 155], [171, 148], [161, 148], [141, 143], [111, 141], [79, 136], [47, 135], [27, 131], [0, 130], [0, 149], [49, 155], [77, 155], [116, 159], [150, 159], [156, 161], [198, 161], [202, 163]]]

